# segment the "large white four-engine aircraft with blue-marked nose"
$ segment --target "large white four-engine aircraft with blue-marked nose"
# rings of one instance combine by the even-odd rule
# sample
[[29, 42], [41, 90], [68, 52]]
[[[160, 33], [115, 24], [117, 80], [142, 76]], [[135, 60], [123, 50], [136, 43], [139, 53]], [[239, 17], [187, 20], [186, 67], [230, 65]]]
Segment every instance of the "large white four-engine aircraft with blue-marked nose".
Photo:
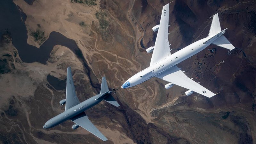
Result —
[[168, 19], [169, 4], [166, 4], [162, 10], [160, 24], [152, 28], [153, 31], [158, 30], [158, 33], [155, 46], [151, 46], [147, 49], [148, 53], [153, 51], [150, 66], [129, 78], [122, 85], [122, 88], [133, 87], [155, 76], [169, 82], [169, 84], [165, 85], [166, 89], [176, 84], [188, 89], [188, 91], [185, 92], [187, 96], [194, 92], [209, 98], [214, 96], [215, 94], [213, 92], [186, 76], [176, 65], [204, 50], [204, 48], [210, 44], [218, 45], [230, 51], [233, 50], [235, 47], [223, 36], [227, 28], [224, 30], [220, 29], [220, 21], [217, 13], [213, 16], [210, 32], [206, 38], [196, 41], [171, 55], [168, 41], [168, 27], [170, 26]]

